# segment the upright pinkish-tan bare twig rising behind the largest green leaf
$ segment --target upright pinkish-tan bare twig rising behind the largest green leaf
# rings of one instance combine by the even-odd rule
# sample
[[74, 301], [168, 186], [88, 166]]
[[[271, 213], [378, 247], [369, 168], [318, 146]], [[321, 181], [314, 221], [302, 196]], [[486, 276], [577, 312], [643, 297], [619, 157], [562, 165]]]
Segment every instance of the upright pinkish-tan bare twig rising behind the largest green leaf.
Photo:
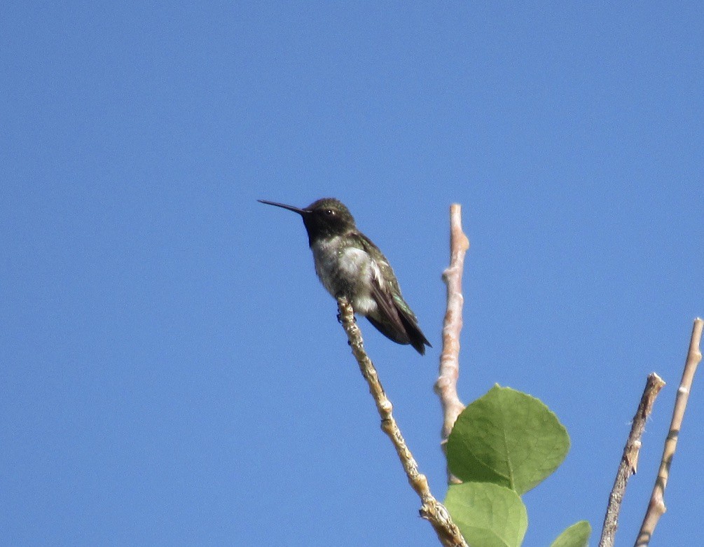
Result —
[[[443, 323], [442, 353], [438, 379], [435, 382], [435, 393], [440, 398], [443, 413], [443, 425], [440, 445], [447, 452], [447, 438], [455, 421], [465, 410], [465, 405], [457, 394], [457, 380], [460, 376], [460, 332], [462, 330], [462, 306], [465, 297], [462, 294], [462, 274], [465, 265], [465, 254], [470, 248], [470, 240], [462, 231], [462, 206], [453, 203], [450, 206], [450, 265], [443, 272], [443, 280], [447, 285], [447, 310]], [[461, 482], [450, 470], [447, 472], [448, 482]]]

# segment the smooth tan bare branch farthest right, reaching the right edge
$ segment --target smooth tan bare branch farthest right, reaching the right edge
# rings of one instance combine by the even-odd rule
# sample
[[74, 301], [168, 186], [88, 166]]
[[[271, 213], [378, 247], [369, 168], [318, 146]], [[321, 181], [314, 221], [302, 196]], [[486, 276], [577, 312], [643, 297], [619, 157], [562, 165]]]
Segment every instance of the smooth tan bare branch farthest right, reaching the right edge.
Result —
[[670, 422], [670, 433], [667, 434], [667, 439], [665, 439], [665, 449], [662, 451], [662, 460], [660, 461], [658, 478], [655, 479], [653, 495], [650, 496], [648, 510], [646, 511], [646, 516], [643, 518], [643, 524], [641, 524], [641, 530], [638, 533], [638, 538], [636, 539], [636, 547], [643, 547], [650, 543], [650, 538], [653, 536], [655, 526], [658, 524], [660, 517], [666, 510], [664, 496], [665, 487], [667, 486], [667, 478], [670, 476], [670, 465], [672, 465], [672, 457], [674, 456], [674, 451], [677, 448], [677, 438], [679, 437], [679, 430], [682, 427], [682, 418], [684, 417], [684, 410], [687, 407], [687, 401], [689, 399], [689, 392], [692, 387], [694, 373], [697, 370], [697, 365], [700, 360], [702, 360], [699, 344], [702, 339], [703, 327], [704, 321], [697, 317], [694, 320], [694, 326], [692, 328], [692, 337], [689, 341], [689, 352], [687, 353], [687, 360], [684, 363], [684, 372], [682, 372], [682, 379], [679, 383], [679, 389], [677, 389], [677, 398], [674, 400], [674, 411], [672, 412], [672, 422]]

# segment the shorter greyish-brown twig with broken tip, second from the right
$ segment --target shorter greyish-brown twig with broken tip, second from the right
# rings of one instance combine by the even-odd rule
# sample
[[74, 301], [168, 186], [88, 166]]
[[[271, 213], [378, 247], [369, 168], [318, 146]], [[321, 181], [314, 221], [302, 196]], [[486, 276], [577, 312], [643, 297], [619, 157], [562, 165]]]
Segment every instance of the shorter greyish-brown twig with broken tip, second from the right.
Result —
[[636, 415], [633, 417], [631, 433], [623, 449], [616, 480], [609, 496], [599, 547], [612, 547], [614, 544], [616, 529], [618, 528], [618, 515], [621, 510], [624, 493], [626, 492], [626, 484], [631, 475], [636, 474], [638, 455], [641, 451], [641, 437], [643, 436], [643, 430], [646, 429], [646, 420], [648, 420], [648, 416], [653, 411], [655, 398], [663, 386], [665, 386], [665, 382], [655, 372], [648, 375], [646, 389], [643, 390], [641, 402], [638, 405], [638, 410], [636, 410]]

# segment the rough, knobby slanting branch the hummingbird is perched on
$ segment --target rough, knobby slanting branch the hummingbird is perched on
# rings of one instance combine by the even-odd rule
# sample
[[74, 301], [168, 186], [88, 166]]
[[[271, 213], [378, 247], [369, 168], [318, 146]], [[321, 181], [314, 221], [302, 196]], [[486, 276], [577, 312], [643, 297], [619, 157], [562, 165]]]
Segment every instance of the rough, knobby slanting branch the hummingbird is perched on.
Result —
[[364, 350], [362, 334], [354, 320], [354, 310], [351, 303], [349, 303], [347, 298], [341, 296], [337, 298], [337, 307], [340, 311], [340, 320], [347, 333], [352, 353], [359, 364], [364, 379], [369, 384], [369, 391], [377, 404], [379, 416], [382, 418], [382, 431], [389, 436], [389, 439], [394, 444], [398, 458], [401, 460], [401, 465], [403, 465], [403, 470], [408, 477], [408, 482], [422, 502], [420, 516], [432, 524], [438, 538], [445, 547], [467, 547], [460, 530], [452, 522], [448, 510], [430, 493], [428, 480], [418, 470], [418, 464], [413, 458], [413, 454], [410, 453], [408, 446], [406, 446], [406, 440], [403, 439], [401, 429], [398, 429], [398, 425], [396, 425], [396, 420], [391, 414], [391, 410], [394, 407], [391, 405], [389, 398], [386, 397], [386, 393], [384, 393], [384, 388], [379, 382], [374, 363], [372, 363], [372, 360]]

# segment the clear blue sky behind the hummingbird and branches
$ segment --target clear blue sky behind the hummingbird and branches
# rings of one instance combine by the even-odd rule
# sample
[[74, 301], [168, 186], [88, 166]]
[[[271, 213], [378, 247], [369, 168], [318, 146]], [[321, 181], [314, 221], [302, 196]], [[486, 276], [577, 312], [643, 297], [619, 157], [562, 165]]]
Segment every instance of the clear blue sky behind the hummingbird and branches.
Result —
[[[596, 534], [646, 375], [632, 544], [704, 314], [700, 2], [4, 3], [0, 544], [432, 546], [299, 218], [344, 201], [434, 348], [362, 320], [444, 497], [432, 393], [463, 204], [460, 395], [572, 436], [525, 545]], [[697, 378], [653, 546], [704, 501]]]

